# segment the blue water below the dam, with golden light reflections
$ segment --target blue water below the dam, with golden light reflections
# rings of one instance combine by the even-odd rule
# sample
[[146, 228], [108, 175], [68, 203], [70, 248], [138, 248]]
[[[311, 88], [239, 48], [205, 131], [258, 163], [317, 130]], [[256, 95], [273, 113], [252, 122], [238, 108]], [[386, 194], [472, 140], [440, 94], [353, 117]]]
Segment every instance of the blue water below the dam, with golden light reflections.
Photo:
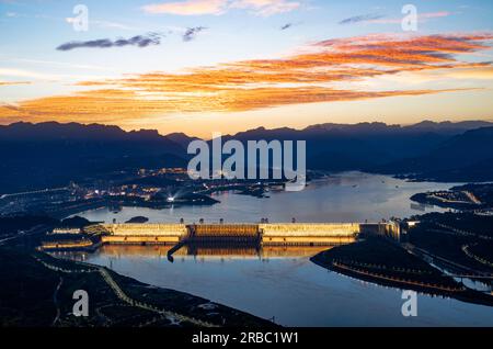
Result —
[[491, 307], [419, 295], [419, 316], [401, 314], [402, 291], [326, 271], [309, 257], [323, 247], [181, 249], [104, 246], [65, 255], [141, 282], [221, 303], [285, 326], [493, 326]]

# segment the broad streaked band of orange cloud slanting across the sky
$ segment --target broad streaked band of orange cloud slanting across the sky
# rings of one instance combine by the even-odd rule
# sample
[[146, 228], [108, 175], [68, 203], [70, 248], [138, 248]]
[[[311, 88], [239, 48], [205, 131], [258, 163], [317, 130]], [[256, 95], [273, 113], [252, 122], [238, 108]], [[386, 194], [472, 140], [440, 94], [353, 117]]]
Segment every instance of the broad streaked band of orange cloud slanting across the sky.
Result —
[[[83, 81], [88, 90], [0, 105], [0, 120], [123, 123], [139, 117], [188, 112], [242, 112], [257, 109], [446, 90], [359, 91], [351, 82], [400, 72], [490, 71], [490, 63], [467, 63], [458, 54], [489, 49], [493, 34], [370, 35], [312, 44], [279, 59], [253, 59], [182, 74], [150, 72], [104, 81]], [[345, 82], [347, 88], [335, 88]], [[339, 85], [341, 86], [341, 85]]]

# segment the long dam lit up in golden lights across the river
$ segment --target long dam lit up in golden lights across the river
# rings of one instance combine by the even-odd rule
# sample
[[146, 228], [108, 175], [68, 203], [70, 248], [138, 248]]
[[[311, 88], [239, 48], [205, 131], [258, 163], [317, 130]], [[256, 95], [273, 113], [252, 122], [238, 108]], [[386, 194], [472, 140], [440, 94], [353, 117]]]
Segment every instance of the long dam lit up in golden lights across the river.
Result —
[[107, 245], [334, 246], [362, 234], [395, 237], [399, 223], [96, 224], [82, 229]]

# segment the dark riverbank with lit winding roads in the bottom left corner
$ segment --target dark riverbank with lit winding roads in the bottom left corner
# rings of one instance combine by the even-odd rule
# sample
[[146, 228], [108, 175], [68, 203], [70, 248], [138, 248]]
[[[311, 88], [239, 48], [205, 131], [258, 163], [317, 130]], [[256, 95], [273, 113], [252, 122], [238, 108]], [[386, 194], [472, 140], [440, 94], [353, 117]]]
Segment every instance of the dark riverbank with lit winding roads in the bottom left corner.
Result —
[[[0, 249], [3, 327], [270, 327], [271, 322], [183, 292], [151, 286], [104, 267]], [[89, 316], [76, 317], [76, 290]]]

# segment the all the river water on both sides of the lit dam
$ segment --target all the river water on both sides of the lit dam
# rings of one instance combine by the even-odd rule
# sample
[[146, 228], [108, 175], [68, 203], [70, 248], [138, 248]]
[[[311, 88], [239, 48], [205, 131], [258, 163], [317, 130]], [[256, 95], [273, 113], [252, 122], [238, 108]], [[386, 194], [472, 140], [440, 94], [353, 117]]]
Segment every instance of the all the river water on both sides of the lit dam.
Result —
[[[255, 199], [220, 193], [207, 207], [107, 209], [80, 214], [92, 221], [125, 222], [144, 215], [151, 222], [364, 222], [405, 217], [437, 207], [413, 205], [417, 192], [454, 184], [411, 183], [385, 176], [343, 173], [317, 181], [302, 192], [273, 192]], [[325, 248], [263, 250], [182, 248], [174, 262], [169, 247], [105, 246], [71, 258], [106, 266], [157, 286], [187, 292], [285, 326], [493, 326], [493, 308], [420, 294], [417, 316], [401, 313], [402, 290], [382, 288], [330, 272], [309, 258]]]

